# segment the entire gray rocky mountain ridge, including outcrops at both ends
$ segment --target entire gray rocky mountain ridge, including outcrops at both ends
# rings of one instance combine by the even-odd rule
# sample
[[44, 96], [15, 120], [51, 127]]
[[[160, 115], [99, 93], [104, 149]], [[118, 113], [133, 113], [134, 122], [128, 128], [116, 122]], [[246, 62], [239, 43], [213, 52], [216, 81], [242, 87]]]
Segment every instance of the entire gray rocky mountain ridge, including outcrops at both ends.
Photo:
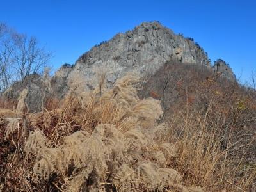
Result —
[[[16, 86], [15, 83], [8, 89], [6, 95], [12, 95], [17, 99], [24, 88], [28, 89], [28, 104], [36, 103], [38, 95], [53, 95], [63, 98], [70, 90], [74, 81], [83, 82], [85, 90], [93, 89], [97, 83], [98, 74], [106, 74], [107, 86], [111, 87], [116, 79], [124, 76], [127, 72], [138, 72], [145, 81], [154, 76], [156, 72], [170, 61], [175, 63], [186, 63], [206, 68], [227, 77], [230, 81], [236, 81], [232, 69], [223, 60], [217, 60], [211, 65], [207, 52], [193, 38], [185, 38], [183, 35], [175, 35], [172, 30], [165, 28], [159, 22], [143, 22], [132, 31], [118, 33], [111, 40], [95, 45], [90, 51], [85, 52], [74, 65], [64, 64], [51, 77], [51, 88], [45, 93], [45, 78], [36, 78], [31, 81], [32, 76], [26, 77], [28, 83]], [[80, 80], [77, 80], [80, 79]], [[35, 79], [34, 79], [35, 80]], [[36, 95], [35, 95], [36, 90]], [[44, 92], [44, 93], [43, 93]], [[42, 93], [42, 94], [41, 94]], [[43, 99], [40, 99], [43, 100]], [[36, 106], [28, 106], [29, 110], [38, 111], [42, 109], [42, 102]]]

